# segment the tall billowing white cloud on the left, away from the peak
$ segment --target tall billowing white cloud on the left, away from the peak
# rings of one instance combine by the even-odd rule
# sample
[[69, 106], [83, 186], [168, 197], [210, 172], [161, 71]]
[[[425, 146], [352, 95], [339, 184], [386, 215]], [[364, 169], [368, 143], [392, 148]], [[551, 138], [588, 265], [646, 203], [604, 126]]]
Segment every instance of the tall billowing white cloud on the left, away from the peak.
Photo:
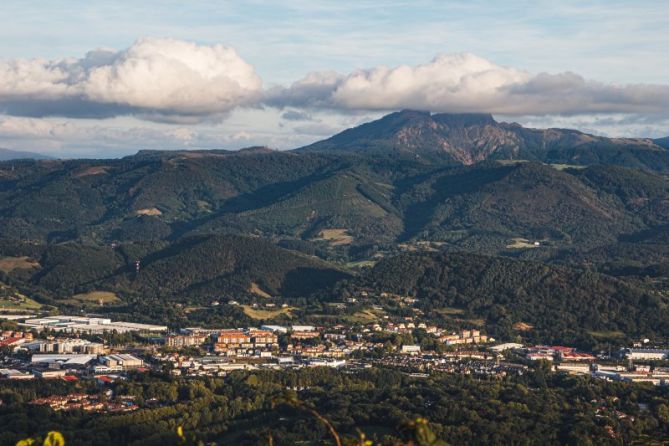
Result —
[[0, 110], [21, 116], [195, 122], [254, 104], [262, 81], [234, 49], [142, 39], [81, 59], [0, 62]]

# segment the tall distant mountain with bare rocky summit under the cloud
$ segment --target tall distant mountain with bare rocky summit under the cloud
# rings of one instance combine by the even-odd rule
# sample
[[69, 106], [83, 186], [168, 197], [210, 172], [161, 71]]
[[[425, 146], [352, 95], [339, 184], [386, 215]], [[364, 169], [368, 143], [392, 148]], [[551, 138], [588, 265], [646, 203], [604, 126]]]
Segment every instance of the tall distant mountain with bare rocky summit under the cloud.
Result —
[[470, 165], [485, 160], [615, 164], [669, 169], [667, 140], [605, 138], [577, 130], [529, 129], [489, 114], [404, 110], [345, 130], [300, 152], [391, 154]]

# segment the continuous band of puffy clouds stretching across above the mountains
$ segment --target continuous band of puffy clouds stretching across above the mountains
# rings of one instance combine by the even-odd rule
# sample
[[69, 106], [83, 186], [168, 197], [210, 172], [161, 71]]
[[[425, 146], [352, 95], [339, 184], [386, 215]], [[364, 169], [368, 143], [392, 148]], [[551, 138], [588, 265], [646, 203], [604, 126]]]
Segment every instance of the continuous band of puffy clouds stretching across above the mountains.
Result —
[[174, 39], [142, 39], [122, 51], [81, 59], [0, 62], [0, 107], [18, 116], [133, 115], [180, 123], [220, 119], [244, 106], [504, 115], [669, 113], [669, 85], [613, 85], [578, 74], [497, 65], [473, 54], [349, 74], [309, 73], [263, 91], [234, 49]]

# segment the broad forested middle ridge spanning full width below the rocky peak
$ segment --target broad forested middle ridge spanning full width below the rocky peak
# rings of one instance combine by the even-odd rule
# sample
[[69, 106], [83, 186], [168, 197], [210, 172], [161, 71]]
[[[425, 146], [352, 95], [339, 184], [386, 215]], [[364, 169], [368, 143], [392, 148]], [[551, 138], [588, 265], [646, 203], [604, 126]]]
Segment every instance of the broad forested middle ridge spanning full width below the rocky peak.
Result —
[[548, 258], [662, 227], [667, 203], [666, 177], [615, 166], [266, 149], [0, 163], [0, 238], [49, 243], [234, 233], [349, 258], [421, 240]]

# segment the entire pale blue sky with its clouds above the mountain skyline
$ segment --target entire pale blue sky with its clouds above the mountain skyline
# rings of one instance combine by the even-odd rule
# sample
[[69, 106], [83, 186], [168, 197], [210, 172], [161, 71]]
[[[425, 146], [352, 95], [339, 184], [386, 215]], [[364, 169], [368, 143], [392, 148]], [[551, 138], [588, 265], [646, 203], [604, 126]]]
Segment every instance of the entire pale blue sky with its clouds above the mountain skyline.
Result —
[[669, 135], [666, 0], [3, 0], [0, 147], [290, 149], [391, 111]]

